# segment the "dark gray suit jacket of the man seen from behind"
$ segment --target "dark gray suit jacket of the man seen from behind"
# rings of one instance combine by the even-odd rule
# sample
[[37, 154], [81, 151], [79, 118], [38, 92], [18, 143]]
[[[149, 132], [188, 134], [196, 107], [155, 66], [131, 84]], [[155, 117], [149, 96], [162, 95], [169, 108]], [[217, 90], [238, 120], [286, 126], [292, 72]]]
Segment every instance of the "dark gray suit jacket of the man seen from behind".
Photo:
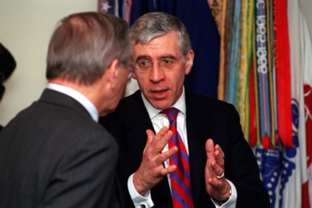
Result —
[[0, 207], [119, 207], [117, 158], [80, 103], [46, 89], [0, 134]]

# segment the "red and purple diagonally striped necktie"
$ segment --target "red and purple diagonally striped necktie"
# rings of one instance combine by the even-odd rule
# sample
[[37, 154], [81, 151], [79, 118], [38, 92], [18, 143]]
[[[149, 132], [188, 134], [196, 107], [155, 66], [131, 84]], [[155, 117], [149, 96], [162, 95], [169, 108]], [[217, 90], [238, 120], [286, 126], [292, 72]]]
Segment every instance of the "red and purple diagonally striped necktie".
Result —
[[170, 174], [173, 208], [193, 208], [188, 153], [177, 131], [178, 112], [179, 110], [176, 108], [170, 108], [161, 112], [167, 115], [170, 123], [169, 130], [172, 131], [172, 137], [168, 143], [169, 148], [178, 147], [178, 152], [169, 158], [169, 164], [177, 166], [176, 171]]

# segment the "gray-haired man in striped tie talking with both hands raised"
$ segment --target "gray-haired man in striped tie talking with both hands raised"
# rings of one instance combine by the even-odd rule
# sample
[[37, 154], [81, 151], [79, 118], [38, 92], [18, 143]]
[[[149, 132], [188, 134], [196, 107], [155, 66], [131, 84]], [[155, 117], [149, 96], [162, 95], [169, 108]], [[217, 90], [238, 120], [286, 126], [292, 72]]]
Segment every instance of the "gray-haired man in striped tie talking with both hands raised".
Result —
[[130, 38], [140, 90], [100, 119], [119, 143], [127, 206], [269, 207], [234, 106], [184, 90], [194, 52], [183, 24], [147, 13]]

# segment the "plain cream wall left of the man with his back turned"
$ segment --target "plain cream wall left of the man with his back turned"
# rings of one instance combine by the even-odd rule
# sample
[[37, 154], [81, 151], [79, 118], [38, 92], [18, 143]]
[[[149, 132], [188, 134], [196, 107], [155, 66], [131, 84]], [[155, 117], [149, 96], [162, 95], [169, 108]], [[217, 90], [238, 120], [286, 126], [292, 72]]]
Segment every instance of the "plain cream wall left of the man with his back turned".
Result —
[[56, 22], [71, 13], [96, 10], [97, 0], [0, 0], [0, 42], [17, 62], [4, 83], [1, 125], [37, 100], [46, 87], [46, 53]]

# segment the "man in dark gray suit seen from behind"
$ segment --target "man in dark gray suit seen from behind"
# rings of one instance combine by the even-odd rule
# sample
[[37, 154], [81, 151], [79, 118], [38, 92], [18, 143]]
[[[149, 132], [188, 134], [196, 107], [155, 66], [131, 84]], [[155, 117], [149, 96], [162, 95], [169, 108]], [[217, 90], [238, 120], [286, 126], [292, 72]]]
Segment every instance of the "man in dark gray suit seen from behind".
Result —
[[0, 207], [120, 207], [118, 146], [98, 124], [132, 75], [127, 23], [96, 12], [61, 20], [48, 86], [0, 134]]

